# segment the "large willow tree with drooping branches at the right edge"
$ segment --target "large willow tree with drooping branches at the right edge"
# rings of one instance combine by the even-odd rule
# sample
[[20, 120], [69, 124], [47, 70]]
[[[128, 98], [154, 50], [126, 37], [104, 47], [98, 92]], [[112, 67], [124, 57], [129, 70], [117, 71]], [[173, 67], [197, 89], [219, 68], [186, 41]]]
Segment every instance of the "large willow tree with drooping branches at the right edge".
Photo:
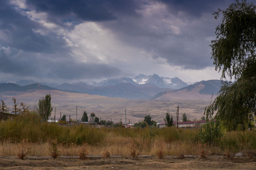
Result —
[[[256, 6], [243, 0], [230, 4], [211, 41], [215, 70], [222, 72], [222, 86], [215, 100], [205, 107], [206, 118], [215, 118], [229, 130], [247, 128], [256, 115]], [[230, 78], [229, 81], [226, 79]], [[231, 82], [234, 78], [234, 82]], [[254, 115], [254, 116], [253, 116]]]

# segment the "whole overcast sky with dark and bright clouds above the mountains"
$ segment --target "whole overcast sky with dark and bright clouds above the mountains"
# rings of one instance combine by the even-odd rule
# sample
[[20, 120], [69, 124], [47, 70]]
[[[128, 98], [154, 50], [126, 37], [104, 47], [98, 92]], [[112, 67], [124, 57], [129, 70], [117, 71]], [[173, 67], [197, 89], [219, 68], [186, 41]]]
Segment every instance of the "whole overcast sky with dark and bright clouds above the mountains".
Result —
[[209, 44], [221, 18], [212, 13], [230, 3], [235, 0], [0, 0], [0, 78], [220, 79]]

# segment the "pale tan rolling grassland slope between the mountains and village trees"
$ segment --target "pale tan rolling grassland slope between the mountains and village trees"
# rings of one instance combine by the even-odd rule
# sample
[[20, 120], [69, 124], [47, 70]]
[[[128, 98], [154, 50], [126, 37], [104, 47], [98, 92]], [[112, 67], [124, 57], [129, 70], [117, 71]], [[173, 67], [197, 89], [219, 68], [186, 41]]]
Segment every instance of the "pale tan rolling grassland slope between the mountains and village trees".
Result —
[[[143, 121], [144, 116], [150, 115], [152, 120], [163, 122], [167, 110], [176, 119], [177, 106], [180, 108], [179, 120], [182, 114], [186, 112], [188, 119], [200, 119], [204, 114], [204, 107], [209, 104], [211, 95], [202, 95], [197, 92], [190, 92], [184, 95], [183, 92], [169, 92], [168, 98], [161, 100], [128, 100], [122, 98], [110, 98], [99, 95], [89, 95], [85, 93], [62, 92], [58, 90], [37, 90], [31, 93], [20, 92], [0, 92], [0, 98], [12, 108], [12, 97], [17, 101], [28, 104], [29, 106], [38, 105], [38, 99], [51, 94], [52, 106], [56, 107], [56, 118], [60, 118], [60, 112], [70, 115], [72, 119], [80, 120], [84, 111], [87, 113], [94, 112], [97, 117], [102, 120], [110, 120], [119, 122], [124, 121], [124, 108], [127, 110], [127, 121], [132, 124]], [[54, 117], [54, 110], [51, 118]]]

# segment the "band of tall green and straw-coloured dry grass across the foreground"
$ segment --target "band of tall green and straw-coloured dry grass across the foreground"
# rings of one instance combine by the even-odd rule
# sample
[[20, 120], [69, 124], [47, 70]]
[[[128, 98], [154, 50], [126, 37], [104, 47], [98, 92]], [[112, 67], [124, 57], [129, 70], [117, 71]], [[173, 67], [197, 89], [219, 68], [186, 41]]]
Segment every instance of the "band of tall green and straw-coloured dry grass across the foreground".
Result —
[[[200, 155], [202, 144], [198, 134], [199, 129], [66, 127], [40, 122], [37, 115], [17, 116], [0, 122], [0, 156], [17, 156], [19, 143], [26, 139], [31, 143], [27, 156], [50, 156], [51, 140], [57, 140], [60, 156], [78, 156], [84, 143], [88, 144], [87, 155], [108, 151], [110, 155], [129, 156], [132, 142], [138, 155], [156, 155], [161, 144], [164, 155]], [[205, 155], [223, 155], [227, 150], [230, 154], [255, 152], [256, 130], [225, 132], [219, 145], [204, 146]]]

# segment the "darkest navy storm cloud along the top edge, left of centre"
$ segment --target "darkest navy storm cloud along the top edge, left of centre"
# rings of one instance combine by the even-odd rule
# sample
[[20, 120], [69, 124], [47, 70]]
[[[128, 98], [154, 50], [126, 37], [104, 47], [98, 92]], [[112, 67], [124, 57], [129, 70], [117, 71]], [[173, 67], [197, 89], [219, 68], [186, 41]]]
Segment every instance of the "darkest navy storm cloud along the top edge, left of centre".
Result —
[[137, 15], [138, 8], [132, 0], [27, 0], [28, 6], [36, 11], [48, 13], [48, 20], [57, 24], [65, 21], [108, 21], [117, 19], [116, 13]]

